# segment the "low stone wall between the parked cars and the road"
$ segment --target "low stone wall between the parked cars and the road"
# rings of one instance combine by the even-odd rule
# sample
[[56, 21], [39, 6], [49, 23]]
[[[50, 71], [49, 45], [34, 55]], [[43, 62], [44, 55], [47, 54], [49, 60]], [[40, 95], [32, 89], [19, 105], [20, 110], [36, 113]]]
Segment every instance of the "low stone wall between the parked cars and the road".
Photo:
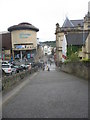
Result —
[[31, 70], [25, 70], [20, 73], [6, 76], [2, 78], [2, 91], [8, 91], [9, 89], [12, 89], [15, 85], [25, 80], [27, 77], [30, 77], [31, 74], [36, 72], [38, 68], [34, 68]]

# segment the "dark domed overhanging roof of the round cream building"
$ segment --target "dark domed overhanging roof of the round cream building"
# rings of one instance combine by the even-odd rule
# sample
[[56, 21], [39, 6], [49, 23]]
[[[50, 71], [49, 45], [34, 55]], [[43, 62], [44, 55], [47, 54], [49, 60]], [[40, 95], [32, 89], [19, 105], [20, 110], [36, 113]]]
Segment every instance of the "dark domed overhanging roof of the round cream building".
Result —
[[30, 23], [26, 23], [26, 22], [23, 22], [23, 23], [20, 23], [18, 25], [14, 25], [14, 26], [11, 26], [8, 28], [8, 31], [14, 31], [14, 30], [26, 30], [26, 29], [29, 29], [29, 30], [34, 30], [36, 32], [39, 31], [38, 28], [36, 28], [35, 26], [33, 26], [32, 24]]

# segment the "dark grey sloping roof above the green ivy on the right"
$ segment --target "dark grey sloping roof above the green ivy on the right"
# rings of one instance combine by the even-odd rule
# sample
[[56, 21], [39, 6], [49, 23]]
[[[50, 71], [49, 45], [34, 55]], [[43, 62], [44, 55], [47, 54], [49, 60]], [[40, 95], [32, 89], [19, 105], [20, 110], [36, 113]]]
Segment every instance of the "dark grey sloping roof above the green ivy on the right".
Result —
[[88, 33], [68, 33], [66, 35], [67, 45], [83, 45]]

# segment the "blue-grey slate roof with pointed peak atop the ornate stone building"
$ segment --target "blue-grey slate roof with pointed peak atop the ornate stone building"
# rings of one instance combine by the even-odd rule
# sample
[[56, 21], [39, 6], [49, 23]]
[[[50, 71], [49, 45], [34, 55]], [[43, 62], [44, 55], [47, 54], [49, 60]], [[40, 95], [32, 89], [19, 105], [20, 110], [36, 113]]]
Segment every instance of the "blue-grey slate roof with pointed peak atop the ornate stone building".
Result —
[[83, 27], [83, 20], [69, 20], [66, 17], [66, 20], [64, 21], [62, 27], [64, 28], [72, 28], [72, 27], [77, 27], [77, 26], [82, 26]]

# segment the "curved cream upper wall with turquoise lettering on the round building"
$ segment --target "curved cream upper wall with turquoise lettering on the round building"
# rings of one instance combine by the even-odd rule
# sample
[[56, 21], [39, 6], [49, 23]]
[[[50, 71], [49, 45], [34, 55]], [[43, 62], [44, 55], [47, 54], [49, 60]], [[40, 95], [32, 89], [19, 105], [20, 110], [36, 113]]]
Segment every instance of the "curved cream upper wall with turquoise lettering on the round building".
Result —
[[14, 44], [33, 43], [33, 48], [37, 47], [37, 34], [32, 30], [15, 30], [11, 32], [12, 48]]

